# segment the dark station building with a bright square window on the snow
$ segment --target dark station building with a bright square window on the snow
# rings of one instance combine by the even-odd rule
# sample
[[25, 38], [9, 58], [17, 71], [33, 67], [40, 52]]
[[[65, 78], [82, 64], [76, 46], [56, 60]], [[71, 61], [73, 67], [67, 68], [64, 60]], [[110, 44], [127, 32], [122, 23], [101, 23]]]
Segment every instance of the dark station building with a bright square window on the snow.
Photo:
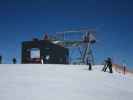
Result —
[[54, 44], [48, 39], [33, 39], [22, 42], [21, 62], [23, 64], [44, 63], [44, 64], [68, 64], [69, 50], [62, 45]]

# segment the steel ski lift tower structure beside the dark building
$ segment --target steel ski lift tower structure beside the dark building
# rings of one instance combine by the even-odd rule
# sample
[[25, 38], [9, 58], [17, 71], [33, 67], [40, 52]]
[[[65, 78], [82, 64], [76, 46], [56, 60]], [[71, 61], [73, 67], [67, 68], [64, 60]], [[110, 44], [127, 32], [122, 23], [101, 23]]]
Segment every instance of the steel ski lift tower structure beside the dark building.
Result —
[[[63, 45], [66, 48], [69, 48], [69, 51], [72, 52], [73, 49], [77, 51], [79, 54], [78, 58], [72, 59], [74, 51], [70, 55], [70, 63], [73, 63], [73, 60], [75, 60], [74, 63], [77, 64], [87, 64], [87, 62], [91, 62], [94, 64], [94, 56], [92, 51], [92, 45], [96, 42], [96, 38], [94, 37], [95, 31], [90, 30], [76, 30], [76, 31], [65, 31], [57, 33], [53, 39], [53, 43]], [[78, 37], [79, 35], [79, 37]], [[74, 39], [73, 36], [78, 37], [78, 39]], [[67, 39], [68, 37], [68, 39]]]

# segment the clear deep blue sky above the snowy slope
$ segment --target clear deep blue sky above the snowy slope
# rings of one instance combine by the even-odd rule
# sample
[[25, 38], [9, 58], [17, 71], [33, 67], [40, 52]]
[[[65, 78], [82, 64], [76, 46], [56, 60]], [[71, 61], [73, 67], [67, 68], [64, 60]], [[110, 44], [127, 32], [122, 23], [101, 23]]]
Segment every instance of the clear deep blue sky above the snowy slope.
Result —
[[111, 56], [133, 67], [132, 0], [0, 0], [0, 54], [4, 63], [20, 62], [21, 42], [43, 32], [95, 27], [97, 63]]

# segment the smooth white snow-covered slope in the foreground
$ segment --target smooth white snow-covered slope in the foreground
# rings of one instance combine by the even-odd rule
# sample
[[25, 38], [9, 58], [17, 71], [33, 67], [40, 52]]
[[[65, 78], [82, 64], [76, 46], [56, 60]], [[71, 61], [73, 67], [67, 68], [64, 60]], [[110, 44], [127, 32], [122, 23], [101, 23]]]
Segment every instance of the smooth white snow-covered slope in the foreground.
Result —
[[85, 65], [0, 65], [0, 100], [133, 100], [133, 76]]

